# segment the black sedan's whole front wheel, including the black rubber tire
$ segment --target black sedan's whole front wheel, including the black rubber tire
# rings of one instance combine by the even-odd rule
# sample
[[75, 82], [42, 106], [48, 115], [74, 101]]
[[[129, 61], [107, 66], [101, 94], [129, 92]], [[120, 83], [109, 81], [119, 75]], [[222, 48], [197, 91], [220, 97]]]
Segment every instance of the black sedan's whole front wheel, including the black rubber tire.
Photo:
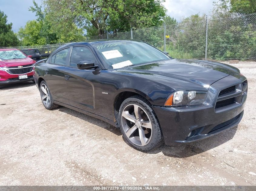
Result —
[[123, 101], [118, 113], [118, 126], [126, 142], [137, 150], [149, 151], [163, 143], [157, 116], [149, 101], [139, 95]]

